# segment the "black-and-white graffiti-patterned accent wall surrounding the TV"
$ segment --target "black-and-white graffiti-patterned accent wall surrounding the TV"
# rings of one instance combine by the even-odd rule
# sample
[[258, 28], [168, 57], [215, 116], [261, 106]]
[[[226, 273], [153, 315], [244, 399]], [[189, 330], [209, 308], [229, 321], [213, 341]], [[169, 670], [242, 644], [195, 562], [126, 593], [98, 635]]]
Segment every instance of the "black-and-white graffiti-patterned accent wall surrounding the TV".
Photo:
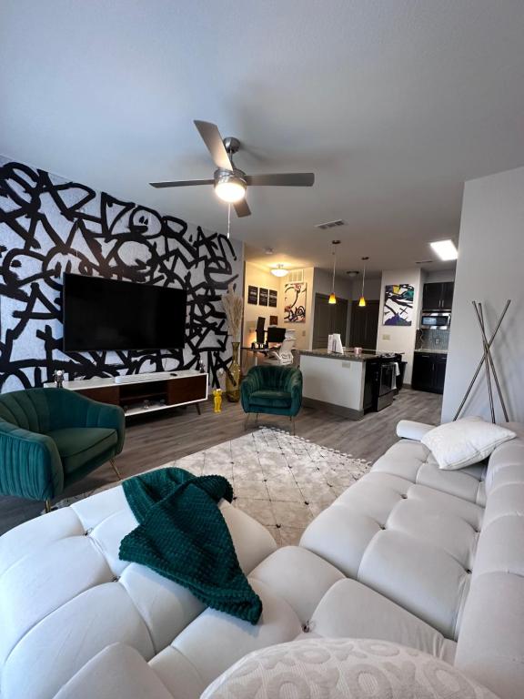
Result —
[[[0, 390], [41, 386], [57, 369], [89, 379], [195, 368], [199, 359], [217, 385], [230, 358], [220, 296], [236, 287], [237, 268], [223, 235], [0, 160]], [[64, 272], [186, 289], [185, 349], [65, 354]]]

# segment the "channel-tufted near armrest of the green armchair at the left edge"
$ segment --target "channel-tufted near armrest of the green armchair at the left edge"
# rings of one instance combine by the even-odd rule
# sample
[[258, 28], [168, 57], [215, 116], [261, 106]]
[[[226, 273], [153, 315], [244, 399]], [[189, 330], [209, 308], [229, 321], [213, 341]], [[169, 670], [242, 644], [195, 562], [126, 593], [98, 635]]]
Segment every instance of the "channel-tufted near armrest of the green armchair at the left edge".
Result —
[[64, 471], [51, 437], [0, 420], [0, 492], [47, 500], [64, 489]]

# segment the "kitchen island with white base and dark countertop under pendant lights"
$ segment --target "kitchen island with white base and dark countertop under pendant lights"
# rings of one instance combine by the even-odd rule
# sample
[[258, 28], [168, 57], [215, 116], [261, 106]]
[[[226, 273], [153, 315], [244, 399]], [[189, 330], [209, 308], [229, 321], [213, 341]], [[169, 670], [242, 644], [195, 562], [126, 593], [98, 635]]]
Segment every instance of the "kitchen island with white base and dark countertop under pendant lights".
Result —
[[[388, 375], [382, 376], [382, 367], [388, 363]], [[373, 350], [364, 350], [357, 355], [352, 351], [343, 354], [328, 352], [327, 349], [300, 351], [300, 370], [303, 377], [303, 404], [343, 415], [349, 420], [361, 420], [371, 410], [374, 399], [378, 408], [380, 386], [383, 395], [394, 388], [394, 360], [385, 360]], [[392, 400], [392, 396], [391, 396]]]

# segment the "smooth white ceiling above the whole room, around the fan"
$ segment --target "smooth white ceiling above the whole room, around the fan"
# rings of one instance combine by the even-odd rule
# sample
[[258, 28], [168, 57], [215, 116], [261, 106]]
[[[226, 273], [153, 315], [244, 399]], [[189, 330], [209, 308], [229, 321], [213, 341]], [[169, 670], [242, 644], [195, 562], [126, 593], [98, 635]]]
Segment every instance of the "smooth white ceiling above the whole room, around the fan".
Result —
[[210, 187], [147, 185], [212, 177], [214, 121], [248, 173], [317, 175], [252, 188], [236, 238], [408, 267], [458, 237], [464, 180], [524, 164], [523, 36], [522, 0], [3, 0], [0, 153], [225, 230]]

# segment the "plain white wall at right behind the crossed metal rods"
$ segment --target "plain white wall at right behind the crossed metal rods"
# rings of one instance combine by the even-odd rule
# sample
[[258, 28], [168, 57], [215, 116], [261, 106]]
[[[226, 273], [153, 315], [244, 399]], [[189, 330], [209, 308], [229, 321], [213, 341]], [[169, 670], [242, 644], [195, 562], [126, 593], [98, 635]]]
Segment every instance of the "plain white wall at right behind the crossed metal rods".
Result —
[[[507, 299], [492, 353], [509, 419], [524, 421], [524, 167], [470, 180], [464, 189], [442, 420], [452, 420], [481, 356], [471, 301], [482, 302], [490, 331]], [[463, 414], [489, 419], [484, 378]]]

